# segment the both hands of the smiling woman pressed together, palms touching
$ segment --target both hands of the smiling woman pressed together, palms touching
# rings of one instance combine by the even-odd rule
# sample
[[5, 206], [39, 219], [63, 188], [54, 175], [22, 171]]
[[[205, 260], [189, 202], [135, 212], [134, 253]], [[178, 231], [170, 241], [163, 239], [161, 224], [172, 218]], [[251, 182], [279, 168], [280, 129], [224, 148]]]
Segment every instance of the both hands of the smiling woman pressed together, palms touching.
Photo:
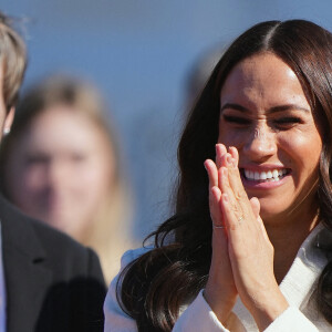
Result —
[[208, 159], [209, 208], [212, 219], [212, 258], [205, 298], [221, 323], [237, 295], [260, 330], [287, 308], [273, 273], [273, 247], [259, 216], [259, 200], [248, 198], [238, 152], [216, 145], [216, 163]]

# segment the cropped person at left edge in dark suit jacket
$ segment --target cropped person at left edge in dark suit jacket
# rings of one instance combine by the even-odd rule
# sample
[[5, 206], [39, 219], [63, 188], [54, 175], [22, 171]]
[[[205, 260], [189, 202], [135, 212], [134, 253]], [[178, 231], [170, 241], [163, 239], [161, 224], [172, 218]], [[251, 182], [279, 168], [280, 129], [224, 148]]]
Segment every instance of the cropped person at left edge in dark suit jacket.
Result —
[[[0, 12], [0, 139], [11, 128], [27, 51]], [[14, 147], [14, 146], [13, 146]], [[95, 252], [0, 195], [0, 331], [98, 332], [106, 288]]]

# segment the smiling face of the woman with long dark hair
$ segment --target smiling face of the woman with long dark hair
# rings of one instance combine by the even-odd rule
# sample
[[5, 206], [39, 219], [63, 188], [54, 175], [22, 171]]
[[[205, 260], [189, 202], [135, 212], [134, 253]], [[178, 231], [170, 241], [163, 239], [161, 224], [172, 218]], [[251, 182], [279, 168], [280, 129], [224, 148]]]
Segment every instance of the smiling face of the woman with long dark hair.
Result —
[[221, 89], [218, 141], [238, 148], [245, 189], [259, 198], [266, 222], [317, 209], [322, 138], [282, 60], [261, 53], [232, 69]]

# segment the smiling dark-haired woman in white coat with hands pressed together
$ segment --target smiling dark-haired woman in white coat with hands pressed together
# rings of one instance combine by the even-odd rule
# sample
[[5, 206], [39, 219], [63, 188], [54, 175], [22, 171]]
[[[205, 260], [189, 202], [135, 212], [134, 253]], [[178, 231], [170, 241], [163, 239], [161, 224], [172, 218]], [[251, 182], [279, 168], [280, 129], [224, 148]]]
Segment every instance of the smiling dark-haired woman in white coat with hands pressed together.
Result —
[[332, 34], [304, 20], [242, 33], [178, 159], [175, 215], [123, 257], [105, 331], [330, 331]]

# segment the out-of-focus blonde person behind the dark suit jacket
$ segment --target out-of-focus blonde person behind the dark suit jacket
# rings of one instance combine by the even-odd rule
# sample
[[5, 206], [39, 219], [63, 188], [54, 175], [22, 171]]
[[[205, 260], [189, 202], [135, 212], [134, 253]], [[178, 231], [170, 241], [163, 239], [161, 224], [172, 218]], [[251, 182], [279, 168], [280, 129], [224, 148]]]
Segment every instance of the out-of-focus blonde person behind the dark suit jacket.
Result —
[[3, 139], [0, 180], [22, 211], [95, 249], [110, 282], [132, 246], [132, 204], [107, 111], [87, 81], [41, 80], [23, 95]]

